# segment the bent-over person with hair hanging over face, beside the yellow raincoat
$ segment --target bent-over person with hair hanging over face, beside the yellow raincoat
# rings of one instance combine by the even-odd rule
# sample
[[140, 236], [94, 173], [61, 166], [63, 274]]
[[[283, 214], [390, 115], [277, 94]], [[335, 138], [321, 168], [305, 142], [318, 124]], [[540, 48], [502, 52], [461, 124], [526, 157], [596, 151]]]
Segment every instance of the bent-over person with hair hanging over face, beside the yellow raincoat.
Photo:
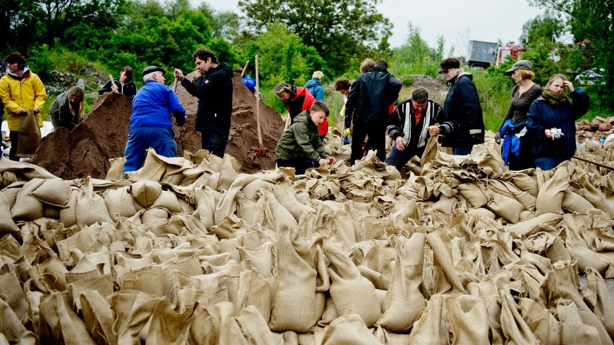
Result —
[[77, 85], [61, 93], [49, 107], [49, 118], [53, 128], [64, 127], [72, 130], [83, 118], [85, 104], [85, 82], [77, 81]]

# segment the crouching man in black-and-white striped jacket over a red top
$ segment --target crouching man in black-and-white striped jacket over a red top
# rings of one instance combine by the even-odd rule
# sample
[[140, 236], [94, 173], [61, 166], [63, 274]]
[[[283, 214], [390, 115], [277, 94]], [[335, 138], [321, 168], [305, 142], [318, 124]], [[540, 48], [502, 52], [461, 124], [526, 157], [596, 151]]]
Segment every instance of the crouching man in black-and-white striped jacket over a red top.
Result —
[[411, 99], [399, 104], [388, 120], [386, 131], [394, 144], [386, 164], [400, 170], [411, 157], [421, 156], [430, 138], [429, 126], [435, 125], [442, 114], [441, 107], [429, 100], [427, 90], [416, 88]]

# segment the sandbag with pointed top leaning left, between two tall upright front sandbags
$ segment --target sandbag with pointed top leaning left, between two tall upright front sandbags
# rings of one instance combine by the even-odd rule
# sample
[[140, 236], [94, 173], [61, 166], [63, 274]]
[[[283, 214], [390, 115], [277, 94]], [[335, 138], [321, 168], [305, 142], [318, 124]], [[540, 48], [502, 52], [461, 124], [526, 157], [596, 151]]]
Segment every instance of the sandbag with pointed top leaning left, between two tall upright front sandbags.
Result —
[[324, 244], [324, 255], [330, 260], [330, 296], [335, 303], [337, 314], [358, 314], [367, 327], [373, 326], [381, 316], [373, 284], [360, 274], [348, 255], [332, 241]]

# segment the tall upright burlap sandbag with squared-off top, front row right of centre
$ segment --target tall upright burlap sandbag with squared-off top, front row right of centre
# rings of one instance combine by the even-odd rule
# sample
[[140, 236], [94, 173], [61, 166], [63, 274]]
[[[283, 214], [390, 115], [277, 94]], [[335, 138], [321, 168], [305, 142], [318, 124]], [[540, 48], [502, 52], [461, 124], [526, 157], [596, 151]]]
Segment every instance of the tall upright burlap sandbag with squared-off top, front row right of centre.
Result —
[[391, 286], [386, 295], [386, 309], [377, 321], [386, 330], [405, 332], [420, 317], [426, 301], [420, 292], [426, 236], [414, 233], [399, 237]]

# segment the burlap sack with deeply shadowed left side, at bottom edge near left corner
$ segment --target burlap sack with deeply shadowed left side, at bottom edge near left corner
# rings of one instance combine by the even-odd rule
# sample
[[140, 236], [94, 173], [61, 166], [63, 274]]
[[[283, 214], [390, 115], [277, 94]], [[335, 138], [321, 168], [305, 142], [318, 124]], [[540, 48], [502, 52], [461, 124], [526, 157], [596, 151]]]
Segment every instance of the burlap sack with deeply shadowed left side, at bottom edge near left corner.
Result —
[[40, 304], [39, 333], [41, 343], [96, 344], [83, 320], [66, 305], [62, 294], [44, 295]]

